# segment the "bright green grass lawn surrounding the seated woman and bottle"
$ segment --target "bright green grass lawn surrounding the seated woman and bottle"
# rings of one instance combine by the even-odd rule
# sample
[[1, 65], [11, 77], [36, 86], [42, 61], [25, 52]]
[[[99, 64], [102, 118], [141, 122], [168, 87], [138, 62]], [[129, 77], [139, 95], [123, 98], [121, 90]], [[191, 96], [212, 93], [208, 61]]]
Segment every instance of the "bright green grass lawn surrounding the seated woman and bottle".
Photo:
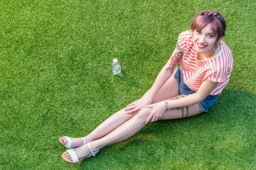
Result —
[[[234, 57], [215, 107], [63, 161], [58, 137], [84, 136], [140, 98], [205, 9], [224, 15]], [[255, 11], [253, 0], [1, 0], [0, 169], [256, 169]]]

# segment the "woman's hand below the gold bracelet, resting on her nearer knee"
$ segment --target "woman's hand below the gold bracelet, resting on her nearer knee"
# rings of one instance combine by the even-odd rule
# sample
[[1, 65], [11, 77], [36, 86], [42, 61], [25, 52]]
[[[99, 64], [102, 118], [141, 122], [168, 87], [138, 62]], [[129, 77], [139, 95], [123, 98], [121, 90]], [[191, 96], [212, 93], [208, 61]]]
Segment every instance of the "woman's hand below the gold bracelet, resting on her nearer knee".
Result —
[[151, 114], [149, 115], [146, 124], [148, 122], [155, 122], [163, 116], [163, 113], [166, 111], [166, 104], [165, 102], [158, 102], [152, 105], [146, 105], [146, 108], [152, 108]]

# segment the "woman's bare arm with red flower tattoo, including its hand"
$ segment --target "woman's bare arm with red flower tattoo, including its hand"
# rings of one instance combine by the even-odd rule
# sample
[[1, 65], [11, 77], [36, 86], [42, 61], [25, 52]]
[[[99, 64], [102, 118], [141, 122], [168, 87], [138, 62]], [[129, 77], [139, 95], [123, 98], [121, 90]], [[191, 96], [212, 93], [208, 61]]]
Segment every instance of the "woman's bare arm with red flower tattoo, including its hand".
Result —
[[177, 46], [178, 45], [176, 45], [176, 48], [173, 51], [172, 56], [170, 57], [166, 65], [164, 65], [160, 73], [157, 75], [157, 78], [155, 79], [152, 87], [139, 100], [136, 100], [131, 104], [127, 105], [127, 107], [125, 108], [125, 111], [127, 111], [126, 113], [134, 113], [140, 111], [140, 109], [144, 108], [145, 105], [148, 105], [153, 101], [154, 96], [157, 94], [160, 88], [163, 87], [166, 81], [172, 76], [175, 68], [177, 67], [183, 56], [183, 51], [181, 51], [180, 48]]

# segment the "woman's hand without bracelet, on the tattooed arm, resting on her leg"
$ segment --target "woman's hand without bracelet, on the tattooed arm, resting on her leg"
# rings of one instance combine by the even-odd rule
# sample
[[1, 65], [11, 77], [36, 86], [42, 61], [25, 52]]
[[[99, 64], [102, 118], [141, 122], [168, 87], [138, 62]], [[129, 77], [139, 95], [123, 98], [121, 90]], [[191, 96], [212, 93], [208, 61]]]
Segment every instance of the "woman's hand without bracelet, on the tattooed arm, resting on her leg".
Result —
[[142, 108], [145, 107], [145, 105], [148, 105], [151, 102], [152, 102], [151, 99], [148, 99], [147, 97], [143, 96], [142, 98], [127, 105], [127, 107], [125, 108], [125, 111], [127, 114], [129, 113], [137, 114]]

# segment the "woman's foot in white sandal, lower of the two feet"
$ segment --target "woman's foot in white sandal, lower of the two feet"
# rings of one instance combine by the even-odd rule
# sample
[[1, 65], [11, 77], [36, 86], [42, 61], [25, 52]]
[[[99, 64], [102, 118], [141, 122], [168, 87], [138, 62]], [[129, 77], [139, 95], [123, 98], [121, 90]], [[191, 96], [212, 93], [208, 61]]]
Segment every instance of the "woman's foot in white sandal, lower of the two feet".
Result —
[[[99, 150], [97, 150], [92, 154], [91, 150], [95, 150], [95, 149], [90, 146], [91, 147], [91, 150], [90, 150], [88, 145], [90, 144], [84, 144], [80, 147], [75, 147], [72, 149], [75, 152], [77, 159], [79, 161], [90, 156], [95, 156], [95, 154], [98, 153]], [[71, 154], [68, 152], [68, 150], [62, 154], [62, 158], [66, 161], [73, 162], [73, 159], [71, 158]], [[77, 162], [76, 160], [74, 161]]]

